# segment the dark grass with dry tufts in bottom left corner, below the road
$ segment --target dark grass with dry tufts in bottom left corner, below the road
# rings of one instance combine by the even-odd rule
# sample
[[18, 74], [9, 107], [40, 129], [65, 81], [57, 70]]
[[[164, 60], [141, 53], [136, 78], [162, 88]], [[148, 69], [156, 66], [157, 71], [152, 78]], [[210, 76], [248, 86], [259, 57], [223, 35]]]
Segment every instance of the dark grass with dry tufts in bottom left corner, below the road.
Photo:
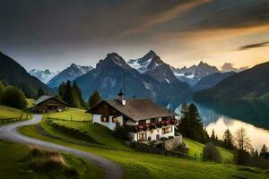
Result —
[[[102, 171], [82, 158], [0, 141], [0, 176], [4, 179], [93, 178], [102, 177]], [[34, 155], [33, 155], [34, 154]], [[38, 155], [37, 155], [38, 154]], [[39, 154], [44, 154], [41, 156]], [[74, 177], [66, 176], [76, 171]], [[72, 174], [72, 173], [71, 173]]]

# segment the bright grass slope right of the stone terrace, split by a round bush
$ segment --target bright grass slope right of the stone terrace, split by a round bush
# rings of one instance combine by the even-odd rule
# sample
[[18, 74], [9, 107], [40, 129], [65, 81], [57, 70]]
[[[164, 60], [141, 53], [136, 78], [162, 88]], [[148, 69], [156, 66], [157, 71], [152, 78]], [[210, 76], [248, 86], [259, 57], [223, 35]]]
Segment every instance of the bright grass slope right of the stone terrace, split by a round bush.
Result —
[[[200, 158], [202, 157], [202, 153], [203, 153], [203, 149], [204, 149], [204, 144], [199, 143], [197, 141], [192, 141], [188, 138], [184, 138], [183, 141], [188, 145], [189, 150], [188, 150], [188, 154], [191, 156]], [[229, 163], [232, 158], [233, 158], [233, 154], [230, 150], [228, 149], [223, 149], [220, 147], [217, 147], [217, 149], [219, 150], [220, 154], [221, 154], [221, 160], [222, 162], [225, 163]]]

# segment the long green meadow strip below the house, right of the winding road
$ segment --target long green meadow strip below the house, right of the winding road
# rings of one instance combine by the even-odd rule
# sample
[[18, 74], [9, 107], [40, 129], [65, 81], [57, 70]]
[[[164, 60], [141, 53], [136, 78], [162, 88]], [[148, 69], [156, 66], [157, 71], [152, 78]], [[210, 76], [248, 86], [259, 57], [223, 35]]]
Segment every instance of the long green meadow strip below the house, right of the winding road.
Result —
[[[49, 132], [52, 132], [53, 130], [54, 129], [51, 128], [49, 129]], [[137, 152], [134, 150], [101, 149], [97, 147], [77, 145], [62, 141], [60, 139], [53, 139], [43, 136], [37, 131], [37, 129], [34, 126], [23, 127], [21, 129], [21, 132], [43, 141], [50, 141], [74, 149], [81, 149], [82, 151], [91, 152], [96, 155], [100, 155], [101, 157], [113, 160], [123, 167], [126, 179], [239, 178], [239, 177], [259, 179], [269, 177], [269, 171], [246, 166], [215, 164], [213, 162], [195, 161], [185, 158], [172, 158], [163, 155]], [[101, 131], [99, 130], [97, 130], [97, 132], [101, 133]], [[57, 132], [54, 132], [54, 134], [56, 133]]]

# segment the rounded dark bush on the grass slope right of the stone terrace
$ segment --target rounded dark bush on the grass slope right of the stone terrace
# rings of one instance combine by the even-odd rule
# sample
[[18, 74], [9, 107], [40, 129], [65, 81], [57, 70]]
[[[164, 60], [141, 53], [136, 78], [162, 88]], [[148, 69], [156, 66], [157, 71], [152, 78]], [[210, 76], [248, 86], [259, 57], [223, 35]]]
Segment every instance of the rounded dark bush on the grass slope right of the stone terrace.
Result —
[[217, 163], [221, 162], [220, 152], [212, 142], [209, 142], [204, 146], [203, 158], [213, 160], [214, 162]]

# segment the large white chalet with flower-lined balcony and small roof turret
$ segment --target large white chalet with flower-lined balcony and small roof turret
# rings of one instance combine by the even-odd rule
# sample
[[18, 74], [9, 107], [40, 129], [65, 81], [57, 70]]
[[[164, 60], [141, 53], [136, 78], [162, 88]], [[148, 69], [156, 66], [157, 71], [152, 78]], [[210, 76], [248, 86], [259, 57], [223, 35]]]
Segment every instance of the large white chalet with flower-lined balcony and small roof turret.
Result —
[[177, 114], [159, 107], [149, 99], [125, 99], [123, 90], [117, 99], [102, 100], [88, 110], [93, 123], [114, 130], [116, 125], [129, 129], [132, 141], [158, 141], [175, 136]]

